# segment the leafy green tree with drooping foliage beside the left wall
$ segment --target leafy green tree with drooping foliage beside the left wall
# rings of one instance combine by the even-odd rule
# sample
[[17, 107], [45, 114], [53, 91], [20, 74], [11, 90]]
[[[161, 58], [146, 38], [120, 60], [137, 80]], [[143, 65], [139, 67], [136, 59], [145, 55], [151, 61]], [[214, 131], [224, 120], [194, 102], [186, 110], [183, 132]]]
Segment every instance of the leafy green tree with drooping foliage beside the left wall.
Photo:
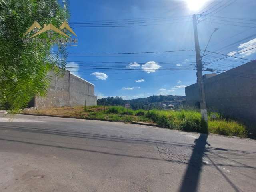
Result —
[[[57, 74], [66, 68], [66, 50], [58, 45], [62, 57], [53, 57], [51, 42], [22, 42], [24, 33], [37, 21], [41, 26], [59, 27], [70, 14], [68, 2], [58, 0], [0, 0], [0, 108], [18, 110], [35, 95], [45, 95], [50, 70]], [[42, 33], [40, 38], [47, 38]]]

